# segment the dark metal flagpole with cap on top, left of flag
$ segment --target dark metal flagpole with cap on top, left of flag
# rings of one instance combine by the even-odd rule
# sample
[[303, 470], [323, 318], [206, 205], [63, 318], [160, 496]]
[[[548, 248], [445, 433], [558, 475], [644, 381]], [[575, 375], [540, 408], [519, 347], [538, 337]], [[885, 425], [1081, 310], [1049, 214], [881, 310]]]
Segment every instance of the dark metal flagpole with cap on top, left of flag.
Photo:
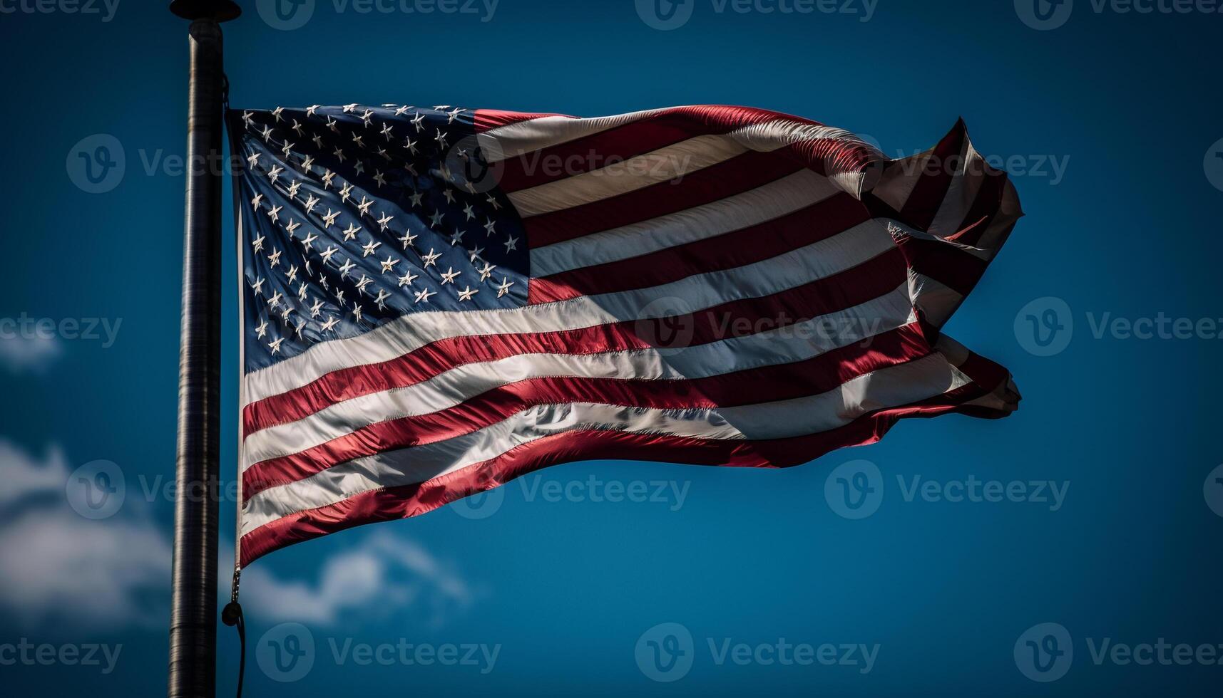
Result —
[[174, 577], [171, 698], [214, 698], [216, 688], [216, 510], [220, 438], [221, 122], [225, 71], [220, 23], [230, 0], [174, 0], [191, 20], [182, 326]]

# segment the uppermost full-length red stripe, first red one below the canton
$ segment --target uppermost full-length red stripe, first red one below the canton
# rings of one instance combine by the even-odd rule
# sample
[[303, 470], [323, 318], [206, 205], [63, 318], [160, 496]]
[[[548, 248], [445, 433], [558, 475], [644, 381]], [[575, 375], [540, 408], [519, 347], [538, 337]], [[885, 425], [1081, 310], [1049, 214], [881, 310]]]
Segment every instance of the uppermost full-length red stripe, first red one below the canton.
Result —
[[895, 290], [906, 277], [904, 257], [893, 248], [854, 269], [780, 293], [731, 301], [674, 319], [623, 320], [580, 330], [439, 340], [394, 359], [344, 368], [296, 390], [247, 405], [242, 411], [243, 434], [296, 422], [342, 400], [412, 385], [470, 362], [523, 353], [581, 355], [646, 348], [659, 346], [648, 340], [669, 336], [669, 328], [691, 328], [692, 345], [742, 336], [751, 334], [740, 330], [744, 323], [759, 328], [761, 320], [789, 324], [843, 310]]

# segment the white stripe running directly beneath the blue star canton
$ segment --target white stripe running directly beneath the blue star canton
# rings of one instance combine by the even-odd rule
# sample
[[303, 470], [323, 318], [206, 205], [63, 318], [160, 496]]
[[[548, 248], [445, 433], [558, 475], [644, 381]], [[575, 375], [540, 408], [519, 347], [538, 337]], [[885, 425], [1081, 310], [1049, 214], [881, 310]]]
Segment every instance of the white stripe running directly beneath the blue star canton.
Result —
[[[625, 319], [665, 318], [741, 298], [770, 296], [844, 271], [893, 247], [881, 221], [746, 266], [711, 271], [652, 288], [525, 306], [505, 310], [432, 312], [396, 318], [356, 337], [320, 342], [246, 377], [249, 402], [307, 385], [334, 370], [382, 363], [427, 343], [457, 336], [559, 331]], [[675, 303], [687, 308], [675, 310]], [[682, 301], [679, 301], [682, 299]]]

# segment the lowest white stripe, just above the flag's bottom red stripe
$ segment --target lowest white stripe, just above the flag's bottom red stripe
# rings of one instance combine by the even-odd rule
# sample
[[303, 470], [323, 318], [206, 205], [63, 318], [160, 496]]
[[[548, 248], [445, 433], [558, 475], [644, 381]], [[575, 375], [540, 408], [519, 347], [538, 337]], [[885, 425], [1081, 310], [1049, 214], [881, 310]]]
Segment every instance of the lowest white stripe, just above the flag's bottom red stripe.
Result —
[[243, 534], [297, 511], [358, 494], [415, 484], [575, 429], [660, 433], [700, 439], [783, 439], [843, 427], [862, 414], [955, 390], [969, 383], [942, 355], [877, 370], [819, 395], [718, 410], [653, 410], [578, 402], [543, 405], [478, 432], [331, 467], [269, 488], [243, 505]]

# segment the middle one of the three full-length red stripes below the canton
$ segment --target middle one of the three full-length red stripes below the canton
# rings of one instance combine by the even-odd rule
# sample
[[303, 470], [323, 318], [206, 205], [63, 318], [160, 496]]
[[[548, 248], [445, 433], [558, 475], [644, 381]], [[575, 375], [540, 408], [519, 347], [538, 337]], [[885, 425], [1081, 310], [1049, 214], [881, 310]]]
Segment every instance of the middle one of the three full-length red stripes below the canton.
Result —
[[[827, 392], [846, 380], [931, 352], [921, 330], [906, 325], [876, 336], [870, 347], [850, 345], [796, 363], [692, 380], [564, 377], [521, 380], [440, 412], [378, 422], [319, 446], [256, 463], [242, 473], [242, 494], [248, 499], [346, 461], [470, 434], [538, 405], [594, 402], [682, 410], [777, 402]], [[748, 385], [751, 390], [745, 390]]]

